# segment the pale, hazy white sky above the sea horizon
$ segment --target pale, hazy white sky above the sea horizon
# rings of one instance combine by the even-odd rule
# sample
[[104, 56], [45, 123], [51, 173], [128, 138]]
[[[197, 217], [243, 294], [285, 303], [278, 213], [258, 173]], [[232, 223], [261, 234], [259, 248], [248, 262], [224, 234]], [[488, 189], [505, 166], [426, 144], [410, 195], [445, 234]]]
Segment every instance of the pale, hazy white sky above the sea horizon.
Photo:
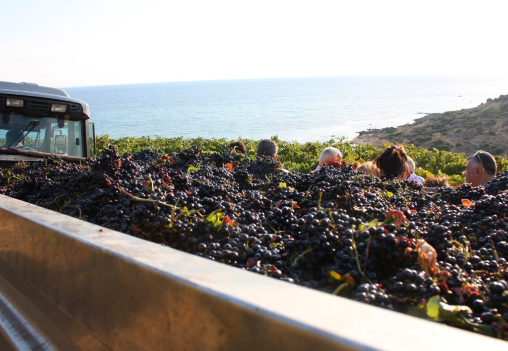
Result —
[[505, 0], [18, 0], [1, 11], [5, 81], [508, 71]]

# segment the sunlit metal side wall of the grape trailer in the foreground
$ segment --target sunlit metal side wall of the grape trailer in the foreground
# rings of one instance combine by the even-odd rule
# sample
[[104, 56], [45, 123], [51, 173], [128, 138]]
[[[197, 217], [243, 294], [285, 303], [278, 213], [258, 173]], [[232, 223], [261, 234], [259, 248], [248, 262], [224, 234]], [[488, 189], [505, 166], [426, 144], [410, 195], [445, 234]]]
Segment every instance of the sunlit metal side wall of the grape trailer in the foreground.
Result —
[[0, 349], [503, 349], [0, 195]]

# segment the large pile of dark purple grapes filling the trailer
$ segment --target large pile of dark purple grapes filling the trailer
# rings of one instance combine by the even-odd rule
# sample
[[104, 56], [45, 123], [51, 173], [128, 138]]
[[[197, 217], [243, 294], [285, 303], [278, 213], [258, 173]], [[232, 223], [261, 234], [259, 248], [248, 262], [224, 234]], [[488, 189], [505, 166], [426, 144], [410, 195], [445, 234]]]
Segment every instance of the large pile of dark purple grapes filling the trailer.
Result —
[[315, 174], [265, 158], [110, 146], [0, 173], [0, 194], [223, 262], [508, 340], [508, 172], [486, 187]]

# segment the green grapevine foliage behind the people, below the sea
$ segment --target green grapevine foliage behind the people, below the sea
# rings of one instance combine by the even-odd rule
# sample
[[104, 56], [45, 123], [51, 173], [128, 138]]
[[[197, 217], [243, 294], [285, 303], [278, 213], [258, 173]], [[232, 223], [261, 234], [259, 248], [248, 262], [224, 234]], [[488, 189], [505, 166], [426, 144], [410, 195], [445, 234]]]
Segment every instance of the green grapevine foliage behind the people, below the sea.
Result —
[[[319, 164], [319, 155], [321, 151], [327, 146], [334, 146], [342, 152], [342, 157], [345, 161], [353, 162], [366, 162], [372, 161], [378, 154], [383, 151], [383, 148], [376, 148], [372, 144], [355, 145], [346, 141], [344, 138], [334, 138], [326, 142], [307, 142], [300, 144], [296, 141], [288, 142], [273, 136], [271, 138], [279, 146], [279, 156], [277, 161], [281, 162], [285, 169], [295, 172], [308, 173]], [[256, 146], [259, 140], [237, 138], [235, 140], [242, 141], [247, 150], [247, 156], [251, 158], [256, 157]], [[135, 153], [143, 149], [162, 150], [163, 153], [170, 153], [173, 151], [180, 152], [182, 150], [191, 148], [193, 145], [199, 146], [204, 151], [223, 151], [229, 146], [231, 140], [226, 138], [222, 139], [205, 139], [194, 138], [184, 139], [178, 138], [161, 138], [161, 137], [125, 137], [120, 139], [110, 139], [108, 135], [101, 135], [97, 137], [97, 149], [101, 154], [103, 148], [109, 144], [115, 145], [120, 154], [124, 152]], [[415, 160], [417, 165], [417, 174], [427, 177], [434, 176], [447, 176], [453, 184], [460, 184], [464, 181], [462, 173], [466, 158], [463, 154], [453, 153], [443, 150], [442, 147], [450, 147], [450, 143], [438, 140], [438, 146], [430, 150], [423, 147], [415, 146], [414, 144], [405, 145], [408, 155]], [[384, 145], [384, 147], [387, 147]], [[481, 145], [482, 149], [489, 151], [494, 150], [492, 145]], [[483, 147], [487, 146], [487, 147]], [[490, 151], [489, 151], [490, 152]], [[498, 171], [508, 169], [508, 157], [496, 157]]]

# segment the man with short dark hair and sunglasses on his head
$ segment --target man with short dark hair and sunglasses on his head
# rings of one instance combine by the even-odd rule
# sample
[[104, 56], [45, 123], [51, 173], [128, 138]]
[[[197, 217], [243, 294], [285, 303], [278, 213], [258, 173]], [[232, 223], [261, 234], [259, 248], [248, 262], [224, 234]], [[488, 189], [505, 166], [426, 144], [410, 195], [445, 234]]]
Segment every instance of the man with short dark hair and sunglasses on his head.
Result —
[[494, 178], [496, 171], [494, 156], [487, 151], [479, 150], [466, 159], [464, 183], [471, 183], [472, 186], [485, 186]]

